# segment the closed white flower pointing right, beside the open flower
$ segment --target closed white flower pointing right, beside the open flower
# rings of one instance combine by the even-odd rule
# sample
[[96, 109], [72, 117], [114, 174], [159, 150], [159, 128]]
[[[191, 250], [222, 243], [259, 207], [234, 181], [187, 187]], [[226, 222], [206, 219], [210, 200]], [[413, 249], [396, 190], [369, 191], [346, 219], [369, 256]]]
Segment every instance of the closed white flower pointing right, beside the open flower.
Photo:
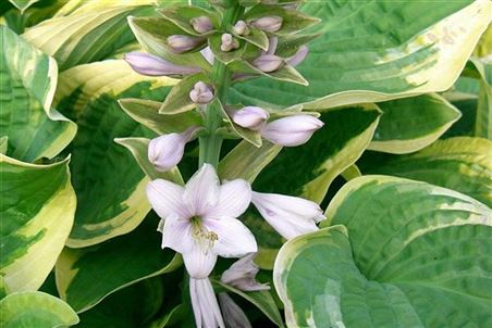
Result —
[[298, 197], [253, 192], [251, 202], [285, 239], [318, 230], [316, 224], [325, 218], [317, 203]]

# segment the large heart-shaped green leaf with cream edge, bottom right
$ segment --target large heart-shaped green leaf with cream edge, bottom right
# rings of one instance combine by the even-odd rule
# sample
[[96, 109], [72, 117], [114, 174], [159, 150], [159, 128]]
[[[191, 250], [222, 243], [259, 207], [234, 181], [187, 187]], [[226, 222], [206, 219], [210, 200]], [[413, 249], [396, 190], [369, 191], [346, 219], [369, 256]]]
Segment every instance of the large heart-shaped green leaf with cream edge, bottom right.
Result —
[[288, 327], [492, 325], [489, 207], [425, 182], [365, 176], [327, 214], [334, 226], [288, 241], [276, 258]]

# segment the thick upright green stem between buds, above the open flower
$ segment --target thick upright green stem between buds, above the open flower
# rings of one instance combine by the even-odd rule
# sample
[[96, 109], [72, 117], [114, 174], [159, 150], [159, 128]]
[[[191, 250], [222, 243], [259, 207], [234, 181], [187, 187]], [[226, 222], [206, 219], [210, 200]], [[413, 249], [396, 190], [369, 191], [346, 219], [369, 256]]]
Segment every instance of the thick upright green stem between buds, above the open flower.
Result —
[[[237, 17], [243, 12], [243, 8], [235, 4], [230, 7], [224, 12], [222, 21], [222, 29], [225, 30], [231, 24], [237, 21]], [[218, 128], [222, 125], [222, 114], [220, 110], [221, 104], [225, 104], [226, 91], [231, 84], [231, 72], [227, 67], [216, 60], [213, 63], [212, 84], [214, 87], [214, 96], [218, 102], [211, 102], [205, 113], [205, 128], [207, 135], [199, 138], [199, 166], [204, 163], [209, 163], [216, 168], [219, 165], [220, 150], [222, 147], [222, 136], [217, 134]]]

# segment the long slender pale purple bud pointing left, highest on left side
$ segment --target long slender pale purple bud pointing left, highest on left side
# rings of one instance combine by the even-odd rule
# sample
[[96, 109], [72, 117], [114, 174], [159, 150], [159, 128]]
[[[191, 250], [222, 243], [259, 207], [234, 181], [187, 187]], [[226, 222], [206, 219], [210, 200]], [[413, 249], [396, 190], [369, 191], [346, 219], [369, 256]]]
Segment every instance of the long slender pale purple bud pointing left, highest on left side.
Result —
[[133, 71], [148, 76], [186, 75], [201, 71], [198, 67], [175, 65], [145, 52], [128, 52], [125, 54], [125, 61], [132, 66]]

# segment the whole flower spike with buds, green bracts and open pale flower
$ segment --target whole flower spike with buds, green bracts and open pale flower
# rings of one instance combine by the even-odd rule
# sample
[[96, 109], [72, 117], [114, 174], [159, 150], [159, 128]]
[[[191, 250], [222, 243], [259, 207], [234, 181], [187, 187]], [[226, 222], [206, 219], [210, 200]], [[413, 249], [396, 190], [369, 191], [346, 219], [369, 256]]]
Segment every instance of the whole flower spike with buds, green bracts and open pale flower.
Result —
[[[158, 228], [162, 234], [161, 247], [183, 256], [197, 327], [247, 328], [251, 327], [249, 320], [226, 293], [219, 294], [221, 312], [209, 280], [219, 256], [242, 257], [222, 274], [222, 283], [245, 292], [269, 289], [256, 281], [259, 268], [253, 257], [258, 251], [257, 242], [238, 218], [254, 206], [279, 235], [291, 239], [318, 229], [317, 224], [324, 216], [319, 205], [309, 200], [256, 192], [243, 179], [221, 181], [216, 171], [218, 160], [213, 162], [210, 160], [213, 156], [201, 156], [207, 148], [202, 141], [213, 141], [212, 135], [221, 141], [220, 131], [227, 123], [235, 137], [244, 137], [247, 141], [253, 140], [248, 136], [254, 135], [255, 142], [261, 137], [282, 147], [296, 147], [307, 142], [323, 126], [320, 119], [303, 113], [283, 114], [279, 118], [260, 106], [233, 108], [226, 103], [226, 88], [234, 81], [234, 76], [268, 76], [306, 85], [293, 67], [307, 56], [308, 48], [298, 43], [309, 37], [297, 37], [299, 30], [292, 29], [293, 26], [309, 27], [316, 20], [297, 13], [295, 8], [287, 9], [276, 0], [210, 2], [216, 12], [177, 5], [159, 10], [161, 17], [147, 21], [133, 17], [132, 29], [143, 48], [151, 53], [130, 52], [125, 61], [142, 75], [184, 77], [158, 106], [162, 117], [153, 122], [153, 127], [167, 116], [177, 114], [189, 124], [185, 125], [184, 131], [180, 129], [150, 140], [145, 160], [157, 172], [174, 172], [186, 144], [200, 130], [204, 130], [199, 138], [200, 159], [205, 160], [200, 160], [199, 169], [185, 186], [153, 179], [147, 186], [147, 198], [161, 217]], [[223, 12], [239, 5], [244, 8], [231, 11], [234, 15]], [[225, 21], [220, 22], [221, 18]], [[156, 20], [162, 20], [162, 25], [158, 26], [167, 28], [151, 37], [155, 30], [149, 25]], [[275, 72], [279, 74], [273, 74]], [[153, 119], [156, 113], [151, 115], [146, 119]], [[210, 117], [217, 119], [207, 121]], [[216, 148], [219, 150], [217, 157], [220, 157], [220, 144]]]

